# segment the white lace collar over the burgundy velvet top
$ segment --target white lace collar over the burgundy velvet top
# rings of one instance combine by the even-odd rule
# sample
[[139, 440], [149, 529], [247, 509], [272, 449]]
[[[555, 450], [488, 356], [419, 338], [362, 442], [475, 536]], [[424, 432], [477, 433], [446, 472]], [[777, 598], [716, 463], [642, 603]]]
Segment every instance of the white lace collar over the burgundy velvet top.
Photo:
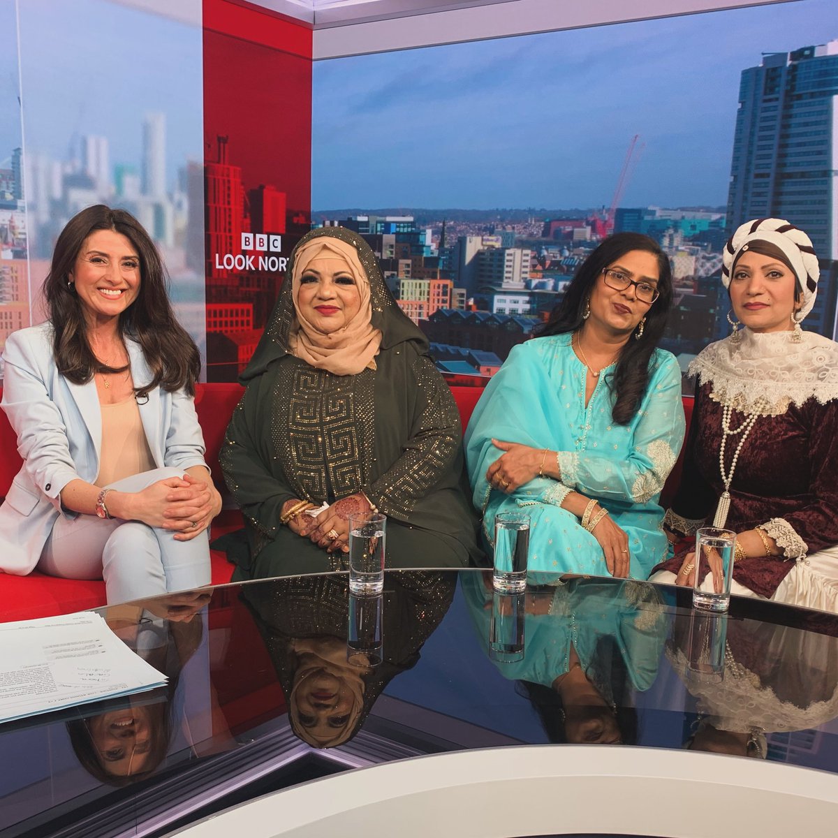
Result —
[[746, 413], [779, 416], [789, 405], [815, 397], [820, 404], [838, 399], [838, 344], [804, 332], [799, 344], [791, 332], [757, 334], [749, 328], [734, 343], [710, 344], [690, 364], [690, 375], [713, 385], [711, 398]]

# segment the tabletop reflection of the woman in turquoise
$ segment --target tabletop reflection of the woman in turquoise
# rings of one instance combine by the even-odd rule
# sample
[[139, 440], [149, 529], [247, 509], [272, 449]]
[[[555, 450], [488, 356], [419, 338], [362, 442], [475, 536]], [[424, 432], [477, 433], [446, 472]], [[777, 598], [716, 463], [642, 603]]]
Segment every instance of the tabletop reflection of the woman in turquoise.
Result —
[[[463, 577], [481, 638], [489, 638], [489, 574]], [[634, 691], [658, 672], [669, 621], [657, 588], [644, 582], [569, 579], [530, 587], [524, 653], [490, 660], [537, 711], [551, 742], [637, 742]], [[488, 640], [487, 640], [488, 643]]]

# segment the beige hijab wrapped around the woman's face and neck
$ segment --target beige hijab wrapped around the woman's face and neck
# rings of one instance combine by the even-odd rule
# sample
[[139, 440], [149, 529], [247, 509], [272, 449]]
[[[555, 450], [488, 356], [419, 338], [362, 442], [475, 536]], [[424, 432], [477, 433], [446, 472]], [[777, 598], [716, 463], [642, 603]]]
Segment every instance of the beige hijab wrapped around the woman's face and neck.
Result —
[[[298, 298], [300, 277], [314, 259], [340, 259], [349, 266], [360, 293], [358, 313], [344, 328], [332, 334], [323, 334], [314, 328], [300, 312]], [[318, 370], [328, 370], [334, 375], [358, 375], [369, 368], [375, 370], [375, 355], [381, 344], [380, 330], [372, 325], [370, 280], [361, 266], [358, 252], [353, 246], [336, 238], [325, 236], [307, 241], [294, 254], [292, 299], [296, 322], [288, 336], [292, 354]]]

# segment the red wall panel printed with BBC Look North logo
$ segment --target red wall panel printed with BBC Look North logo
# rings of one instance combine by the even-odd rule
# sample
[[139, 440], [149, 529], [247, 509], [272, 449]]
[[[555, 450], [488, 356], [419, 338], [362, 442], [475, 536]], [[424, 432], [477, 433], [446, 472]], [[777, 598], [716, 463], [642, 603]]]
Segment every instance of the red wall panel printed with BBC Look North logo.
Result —
[[309, 229], [311, 54], [310, 28], [249, 3], [204, 0], [210, 381], [235, 380], [250, 360], [287, 257]]

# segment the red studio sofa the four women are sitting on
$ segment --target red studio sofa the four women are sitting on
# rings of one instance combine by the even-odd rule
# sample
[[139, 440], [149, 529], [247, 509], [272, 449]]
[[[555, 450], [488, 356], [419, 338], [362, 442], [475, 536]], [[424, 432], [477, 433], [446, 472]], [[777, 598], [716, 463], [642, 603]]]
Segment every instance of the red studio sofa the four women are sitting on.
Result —
[[[477, 404], [481, 387], [452, 386], [454, 399], [463, 420], [463, 427]], [[2, 395], [0, 389], [0, 395]], [[216, 484], [222, 485], [224, 478], [218, 455], [227, 423], [233, 408], [241, 399], [242, 388], [238, 384], [199, 384], [195, 394], [195, 407], [198, 419], [204, 431], [206, 443], [206, 461], [212, 468]], [[684, 409], [689, 426], [692, 413], [692, 399], [684, 399]], [[18, 456], [17, 439], [8, 424], [6, 414], [0, 411], [0, 498], [5, 498], [15, 474], [22, 465]], [[675, 465], [664, 489], [664, 496], [671, 494], [673, 486], [680, 478], [680, 458]], [[223, 510], [212, 525], [215, 538], [230, 530], [241, 527], [241, 513], [238, 510]], [[212, 551], [212, 582], [214, 585], [230, 582], [233, 566], [224, 553]], [[39, 572], [25, 577], [12, 576], [0, 572], [0, 623], [11, 620], [50, 617], [83, 611], [85, 608], [98, 608], [105, 604], [105, 583], [86, 579], [59, 579], [44, 576]]]

